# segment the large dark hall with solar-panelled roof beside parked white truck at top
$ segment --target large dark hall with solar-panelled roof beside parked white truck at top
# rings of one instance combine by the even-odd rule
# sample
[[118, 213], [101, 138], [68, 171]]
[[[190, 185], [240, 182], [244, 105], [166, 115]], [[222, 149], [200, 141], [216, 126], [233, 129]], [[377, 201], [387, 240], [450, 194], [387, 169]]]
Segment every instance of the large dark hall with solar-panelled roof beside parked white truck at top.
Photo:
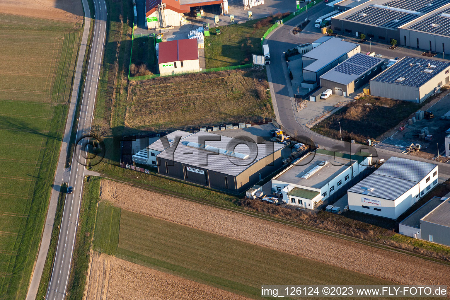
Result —
[[[350, 36], [364, 33], [367, 38], [387, 43], [395, 39], [401, 45], [405, 45], [406, 38], [407, 45], [415, 48], [415, 40], [400, 28], [446, 4], [448, 0], [369, 0], [353, 8], [342, 7], [344, 11], [331, 19], [331, 28]], [[426, 36], [420, 39], [418, 48], [429, 50]]]

